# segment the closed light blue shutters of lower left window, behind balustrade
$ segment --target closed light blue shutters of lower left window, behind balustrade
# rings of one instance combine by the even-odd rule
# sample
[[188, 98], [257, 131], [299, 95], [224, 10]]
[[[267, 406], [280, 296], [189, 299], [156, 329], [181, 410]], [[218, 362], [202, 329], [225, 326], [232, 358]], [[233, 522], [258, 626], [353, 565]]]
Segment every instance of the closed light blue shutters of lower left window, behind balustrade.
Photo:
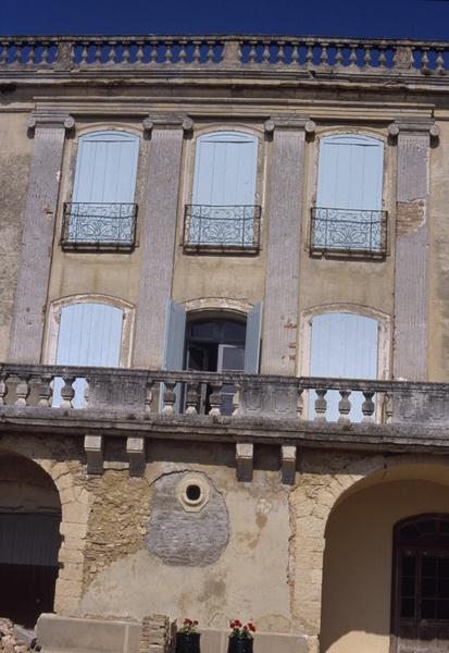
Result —
[[[57, 365], [119, 367], [123, 311], [108, 304], [73, 304], [61, 311]], [[54, 381], [53, 406], [61, 402], [62, 381]], [[74, 406], [84, 406], [85, 379], [74, 383]]]

